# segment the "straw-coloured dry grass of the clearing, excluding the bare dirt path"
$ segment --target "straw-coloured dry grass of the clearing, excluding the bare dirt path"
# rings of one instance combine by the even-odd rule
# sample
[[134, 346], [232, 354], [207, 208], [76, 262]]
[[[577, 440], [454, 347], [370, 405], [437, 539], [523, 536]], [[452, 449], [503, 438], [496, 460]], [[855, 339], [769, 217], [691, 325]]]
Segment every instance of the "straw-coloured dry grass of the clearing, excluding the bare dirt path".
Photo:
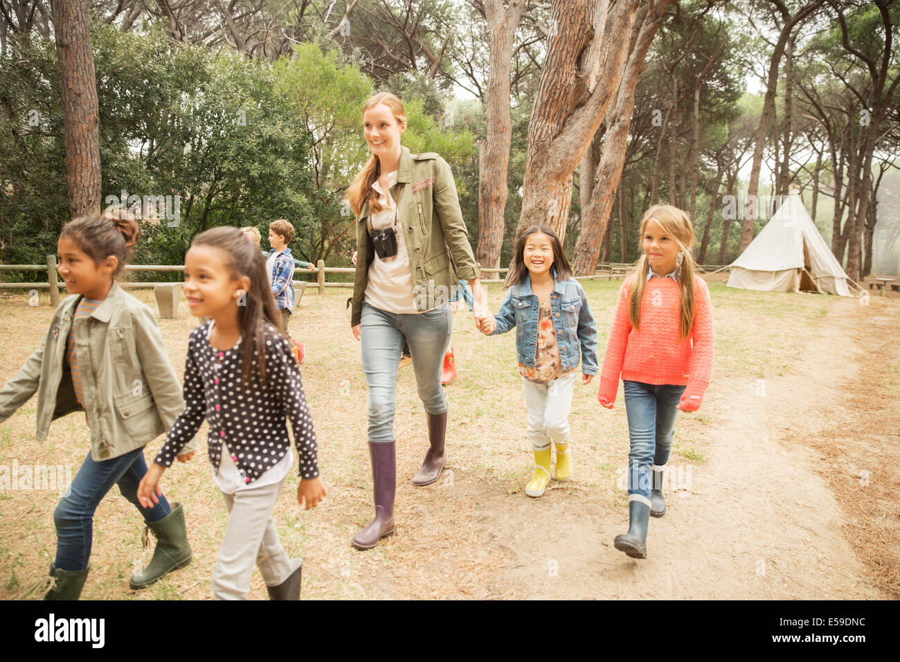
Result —
[[[597, 317], [599, 347], [606, 346], [619, 284], [586, 285]], [[500, 286], [488, 286], [497, 310]], [[365, 446], [366, 391], [358, 344], [353, 340], [345, 303], [349, 290], [310, 291], [293, 316], [294, 337], [306, 343], [303, 382], [320, 440], [320, 467], [329, 495], [319, 508], [303, 512], [296, 503], [296, 476], [288, 478], [275, 509], [284, 546], [303, 556], [304, 597], [355, 598], [515, 598], [516, 586], [498, 576], [517, 563], [515, 537], [527, 531], [495, 530], [489, 517], [498, 512], [544, 512], [547, 503], [582, 498], [624, 508], [617, 475], [628, 451], [621, 391], [613, 412], [597, 404], [597, 382], [578, 386], [572, 403], [573, 449], [577, 475], [568, 484], [552, 484], [543, 499], [528, 499], [524, 485], [532, 458], [525, 438], [525, 405], [515, 369], [515, 334], [483, 338], [469, 313], [455, 314], [453, 345], [459, 377], [447, 386], [450, 419], [445, 474], [437, 485], [414, 488], [410, 478], [427, 449], [427, 431], [411, 368], [398, 382], [397, 532], [379, 546], [358, 552], [349, 539], [372, 515], [372, 479]], [[799, 360], [799, 349], [815, 331], [824, 306], [833, 300], [815, 295], [761, 295], [712, 286], [716, 322], [716, 376], [764, 377]], [[152, 294], [137, 296], [152, 304]], [[46, 295], [45, 297], [46, 298]], [[38, 345], [52, 315], [45, 300], [29, 307], [24, 295], [0, 295], [0, 383], [14, 376]], [[155, 304], [152, 304], [154, 310]], [[188, 334], [194, 326], [184, 302], [177, 320], [160, 321], [166, 349], [179, 376], [184, 371]], [[747, 338], [753, 339], [752, 343]], [[602, 356], [601, 356], [602, 358]], [[707, 430], [715, 410], [680, 417], [676, 452], [680, 462], [702, 462]], [[88, 449], [84, 417], [55, 422], [43, 446], [34, 441], [35, 400], [0, 425], [0, 465], [67, 465], [73, 473]], [[205, 426], [201, 431], [205, 439]], [[148, 461], [161, 439], [148, 446]], [[184, 503], [193, 563], [140, 592], [128, 588], [134, 567], [146, 564], [152, 549], [141, 549], [142, 522], [117, 490], [94, 517], [93, 570], [86, 599], [208, 599], [210, 576], [226, 525], [221, 497], [202, 453], [187, 465], [175, 465], [163, 478], [170, 501]], [[876, 474], [873, 472], [872, 480]], [[48, 491], [0, 491], [0, 598], [23, 595], [45, 576], [54, 556], [52, 512], [58, 494]], [[544, 503], [542, 503], [544, 502]], [[530, 509], [530, 510], [529, 510]], [[896, 565], [896, 564], [895, 564]], [[251, 597], [264, 599], [261, 577], [254, 575]]]

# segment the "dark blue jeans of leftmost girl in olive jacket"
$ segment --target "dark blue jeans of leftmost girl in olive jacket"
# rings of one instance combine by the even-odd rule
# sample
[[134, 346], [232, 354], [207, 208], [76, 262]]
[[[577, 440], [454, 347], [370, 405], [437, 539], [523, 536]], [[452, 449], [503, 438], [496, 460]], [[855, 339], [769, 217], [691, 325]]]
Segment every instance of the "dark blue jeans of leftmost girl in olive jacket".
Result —
[[138, 507], [144, 521], [159, 521], [172, 512], [165, 496], [160, 496], [159, 503], [152, 508], [140, 506], [138, 485], [146, 473], [142, 448], [101, 462], [94, 462], [91, 454], [87, 454], [71, 489], [53, 513], [57, 528], [56, 567], [73, 572], [87, 567], [94, 537], [94, 511], [112, 485], [119, 485], [121, 495]]

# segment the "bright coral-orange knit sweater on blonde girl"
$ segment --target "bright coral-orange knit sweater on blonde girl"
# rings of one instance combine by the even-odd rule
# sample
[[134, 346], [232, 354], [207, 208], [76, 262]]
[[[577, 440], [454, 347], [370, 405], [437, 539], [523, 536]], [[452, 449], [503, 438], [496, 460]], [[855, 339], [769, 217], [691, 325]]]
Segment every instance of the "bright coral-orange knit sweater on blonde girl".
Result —
[[607, 355], [597, 394], [601, 404], [616, 402], [619, 376], [644, 384], [687, 385], [682, 402], [703, 400], [713, 368], [713, 318], [709, 289], [702, 278], [694, 282], [694, 324], [680, 339], [680, 285], [671, 278], [651, 278], [644, 286], [640, 330], [628, 319], [628, 296], [634, 276], [619, 290]]

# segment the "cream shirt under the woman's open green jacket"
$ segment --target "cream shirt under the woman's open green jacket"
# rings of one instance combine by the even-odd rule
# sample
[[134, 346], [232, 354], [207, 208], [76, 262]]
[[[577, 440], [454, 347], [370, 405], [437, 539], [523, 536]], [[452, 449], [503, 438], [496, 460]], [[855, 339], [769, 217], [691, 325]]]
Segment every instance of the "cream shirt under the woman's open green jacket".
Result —
[[[397, 183], [397, 171], [388, 173], [387, 177], [390, 189]], [[369, 216], [369, 231], [384, 230], [394, 225], [397, 202], [393, 199], [388, 200], [377, 180], [372, 187], [378, 193], [378, 202], [382, 204], [382, 210]], [[369, 266], [369, 283], [365, 287], [364, 300], [367, 304], [388, 313], [421, 313], [422, 311], [416, 310], [413, 303], [410, 257], [406, 252], [406, 241], [403, 239], [400, 226], [401, 223], [398, 222], [395, 228], [397, 255], [382, 259], [377, 253], [374, 254], [372, 264]]]

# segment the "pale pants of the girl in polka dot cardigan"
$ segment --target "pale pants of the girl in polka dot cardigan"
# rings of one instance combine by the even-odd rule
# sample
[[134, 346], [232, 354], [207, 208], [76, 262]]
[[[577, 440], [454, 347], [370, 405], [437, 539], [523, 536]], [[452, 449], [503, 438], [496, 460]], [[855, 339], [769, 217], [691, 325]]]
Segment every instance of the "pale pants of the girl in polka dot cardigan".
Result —
[[217, 600], [247, 600], [254, 565], [269, 586], [282, 584], [291, 575], [291, 560], [272, 521], [282, 485], [284, 480], [234, 494], [222, 493], [230, 517], [219, 562], [212, 571], [212, 593]]

